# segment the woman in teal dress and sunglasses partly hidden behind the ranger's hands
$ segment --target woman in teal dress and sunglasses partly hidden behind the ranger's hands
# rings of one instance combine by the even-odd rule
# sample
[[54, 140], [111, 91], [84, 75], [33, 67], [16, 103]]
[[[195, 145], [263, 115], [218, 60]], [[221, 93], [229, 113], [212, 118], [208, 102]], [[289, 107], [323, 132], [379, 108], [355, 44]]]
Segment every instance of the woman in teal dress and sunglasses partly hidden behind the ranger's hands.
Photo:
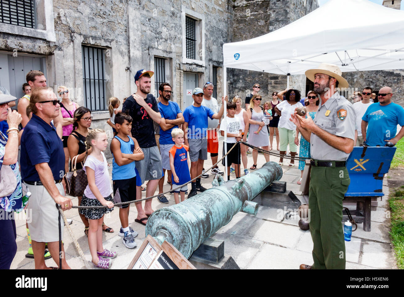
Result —
[[[309, 94], [307, 94], [307, 100], [305, 101], [306, 105], [305, 118], [307, 118], [307, 115], [309, 115], [311, 119], [314, 120], [314, 116], [316, 116], [319, 103], [320, 99], [318, 98], [317, 94], [314, 93], [313, 91], [310, 91]], [[296, 129], [295, 144], [299, 145], [299, 129]], [[304, 139], [304, 137], [300, 137], [299, 156], [301, 158], [310, 158], [310, 143], [309, 141]], [[301, 174], [300, 179], [297, 182], [298, 185], [301, 184], [305, 164], [306, 164], [305, 160], [299, 160], [299, 170], [301, 171]]]

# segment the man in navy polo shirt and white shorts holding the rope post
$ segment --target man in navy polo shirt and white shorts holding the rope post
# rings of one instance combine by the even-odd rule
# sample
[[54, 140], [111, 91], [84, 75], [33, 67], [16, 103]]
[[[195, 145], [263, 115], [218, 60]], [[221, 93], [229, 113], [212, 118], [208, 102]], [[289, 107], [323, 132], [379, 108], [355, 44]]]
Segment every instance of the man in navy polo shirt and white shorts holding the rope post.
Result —
[[[45, 243], [59, 266], [59, 211], [72, 208], [72, 200], [64, 196], [61, 183], [65, 174], [63, 143], [51, 120], [60, 112], [59, 101], [52, 89], [35, 88], [29, 106], [32, 119], [21, 137], [21, 178], [31, 192], [27, 221], [31, 233], [35, 269], [48, 269], [44, 261]], [[63, 228], [61, 229], [63, 238]], [[69, 269], [62, 244], [62, 267]]]

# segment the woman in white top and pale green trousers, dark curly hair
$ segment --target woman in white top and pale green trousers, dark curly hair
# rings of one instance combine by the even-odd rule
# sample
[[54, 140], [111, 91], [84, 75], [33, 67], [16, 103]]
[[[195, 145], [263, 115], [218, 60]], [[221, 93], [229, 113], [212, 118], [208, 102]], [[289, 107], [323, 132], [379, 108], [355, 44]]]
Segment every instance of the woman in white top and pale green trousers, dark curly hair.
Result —
[[[278, 97], [280, 94], [284, 93], [284, 91], [278, 93]], [[279, 148], [280, 148], [280, 160], [279, 165], [283, 165], [283, 155], [286, 154], [286, 150], [290, 149], [290, 156], [292, 159], [290, 160], [289, 167], [295, 166], [295, 156], [297, 152], [297, 145], [295, 144], [295, 136], [296, 136], [296, 125], [291, 122], [290, 115], [295, 112], [297, 107], [302, 107], [302, 103], [300, 103], [300, 92], [294, 89], [289, 89], [285, 93], [285, 100], [279, 103], [275, 107], [275, 112], [280, 115], [279, 123], [278, 123], [278, 131], [279, 131]]]

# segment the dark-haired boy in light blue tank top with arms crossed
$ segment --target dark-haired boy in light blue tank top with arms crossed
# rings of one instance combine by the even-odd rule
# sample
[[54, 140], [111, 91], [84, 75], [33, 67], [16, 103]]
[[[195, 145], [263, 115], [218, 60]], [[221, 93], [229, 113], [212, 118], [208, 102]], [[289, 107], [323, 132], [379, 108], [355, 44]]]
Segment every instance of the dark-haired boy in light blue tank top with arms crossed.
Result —
[[[137, 140], [130, 137], [132, 117], [118, 112], [115, 116], [115, 126], [118, 134], [111, 141], [112, 181], [114, 185], [114, 201], [116, 203], [136, 200], [135, 161], [143, 160], [143, 151]], [[129, 227], [129, 204], [119, 206], [121, 229], [119, 236], [123, 236], [123, 244], [133, 249], [136, 247], [135, 237], [138, 233]], [[147, 218], [146, 218], [147, 219]]]

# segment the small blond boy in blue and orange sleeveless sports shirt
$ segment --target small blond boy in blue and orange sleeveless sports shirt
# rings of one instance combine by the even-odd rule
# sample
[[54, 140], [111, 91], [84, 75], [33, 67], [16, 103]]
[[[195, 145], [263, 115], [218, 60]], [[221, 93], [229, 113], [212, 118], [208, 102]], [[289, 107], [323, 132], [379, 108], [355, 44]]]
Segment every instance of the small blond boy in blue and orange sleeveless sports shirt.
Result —
[[[184, 143], [184, 132], [179, 128], [174, 128], [171, 131], [174, 145], [171, 147], [170, 154], [170, 168], [171, 168], [171, 180], [173, 185], [183, 185], [191, 180], [189, 174], [188, 164], [188, 147]], [[173, 186], [176, 188], [175, 186]], [[181, 201], [185, 200], [185, 192], [188, 190], [188, 185], [184, 185], [179, 190], [174, 192], [175, 204], [179, 203], [178, 193], [181, 193]]]

